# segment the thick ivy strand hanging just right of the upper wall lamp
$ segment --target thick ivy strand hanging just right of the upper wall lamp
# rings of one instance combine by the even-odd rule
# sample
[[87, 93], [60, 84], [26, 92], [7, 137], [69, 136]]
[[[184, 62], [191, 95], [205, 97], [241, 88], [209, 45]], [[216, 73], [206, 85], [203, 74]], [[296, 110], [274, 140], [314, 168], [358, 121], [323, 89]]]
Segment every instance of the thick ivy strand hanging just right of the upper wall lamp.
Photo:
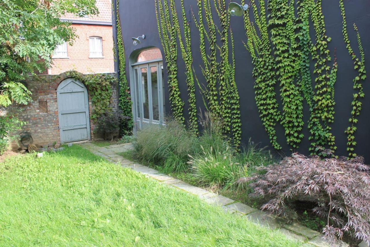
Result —
[[[242, 2], [244, 4], [244, 2]], [[247, 34], [246, 49], [252, 57], [253, 76], [256, 78], [255, 100], [266, 132], [269, 134], [270, 142], [275, 149], [281, 149], [277, 143], [275, 125], [280, 121], [281, 115], [278, 110], [278, 104], [275, 98], [275, 58], [271, 55], [272, 50], [268, 37], [266, 19], [265, 1], [260, 0], [258, 14], [257, 7], [254, 1], [251, 1], [255, 20], [257, 20], [258, 31], [261, 34], [257, 36], [255, 26], [249, 19], [249, 13], [244, 14], [244, 26]], [[259, 46], [259, 43], [261, 44]]]

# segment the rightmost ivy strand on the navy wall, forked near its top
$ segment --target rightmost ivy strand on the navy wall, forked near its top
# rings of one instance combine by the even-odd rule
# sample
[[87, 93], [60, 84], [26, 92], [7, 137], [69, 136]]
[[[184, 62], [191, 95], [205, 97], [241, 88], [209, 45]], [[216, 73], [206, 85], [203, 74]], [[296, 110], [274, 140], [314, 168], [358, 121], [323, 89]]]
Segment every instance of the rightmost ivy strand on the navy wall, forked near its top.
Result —
[[347, 33], [347, 22], [346, 22], [346, 14], [344, 11], [344, 3], [343, 0], [339, 0], [339, 6], [343, 18], [343, 37], [344, 42], [346, 43], [347, 50], [349, 55], [352, 57], [354, 69], [357, 71], [358, 75], [353, 79], [353, 89], [356, 90], [356, 93], [353, 94], [353, 101], [351, 103], [352, 111], [351, 111], [351, 118], [349, 119], [350, 126], [346, 129], [345, 133], [347, 134], [347, 152], [349, 158], [354, 158], [357, 156], [356, 152], [354, 152], [354, 148], [356, 146], [356, 141], [354, 141], [354, 134], [357, 130], [355, 126], [358, 122], [357, 116], [360, 115], [362, 103], [360, 101], [361, 98], [364, 98], [365, 94], [363, 92], [361, 80], [366, 79], [366, 70], [365, 70], [365, 57], [364, 57], [364, 50], [361, 43], [361, 38], [359, 34], [359, 30], [357, 29], [356, 24], [353, 24], [353, 28], [357, 33], [357, 43], [359, 45], [360, 51], [360, 59], [356, 56], [353, 49], [350, 45], [350, 40]]

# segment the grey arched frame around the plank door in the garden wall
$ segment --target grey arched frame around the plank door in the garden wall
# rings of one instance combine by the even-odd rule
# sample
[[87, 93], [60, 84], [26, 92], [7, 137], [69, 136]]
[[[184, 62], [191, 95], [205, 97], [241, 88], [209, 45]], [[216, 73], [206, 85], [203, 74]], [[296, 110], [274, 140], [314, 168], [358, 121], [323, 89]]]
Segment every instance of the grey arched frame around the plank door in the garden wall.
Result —
[[[71, 82], [76, 83], [77, 85], [81, 86], [81, 89], [68, 89], [68, 90], [63, 90], [65, 86], [67, 86]], [[63, 130], [60, 128], [60, 119], [62, 117], [62, 112], [60, 111], [60, 101], [58, 101], [58, 96], [60, 93], [66, 93], [66, 92], [84, 92], [85, 95], [85, 112], [86, 112], [86, 129], [87, 129], [87, 140], [91, 140], [91, 129], [90, 129], [90, 109], [89, 109], [89, 99], [88, 99], [88, 92], [86, 86], [80, 82], [77, 79], [74, 78], [67, 78], [61, 81], [57, 87], [57, 105], [58, 105], [58, 129], [59, 129], [59, 134], [60, 134], [60, 143], [65, 143], [65, 140], [63, 139]], [[59, 97], [60, 99], [60, 97]], [[70, 129], [70, 128], [65, 128]], [[85, 139], [80, 139], [80, 140], [74, 140], [75, 141], [84, 141]]]

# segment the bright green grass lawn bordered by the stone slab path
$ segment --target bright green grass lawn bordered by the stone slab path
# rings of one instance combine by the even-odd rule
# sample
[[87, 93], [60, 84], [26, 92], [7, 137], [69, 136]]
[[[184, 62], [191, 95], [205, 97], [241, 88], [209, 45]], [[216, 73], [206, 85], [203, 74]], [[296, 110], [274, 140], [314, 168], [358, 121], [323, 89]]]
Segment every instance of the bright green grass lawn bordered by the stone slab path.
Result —
[[0, 163], [0, 246], [297, 246], [73, 145]]

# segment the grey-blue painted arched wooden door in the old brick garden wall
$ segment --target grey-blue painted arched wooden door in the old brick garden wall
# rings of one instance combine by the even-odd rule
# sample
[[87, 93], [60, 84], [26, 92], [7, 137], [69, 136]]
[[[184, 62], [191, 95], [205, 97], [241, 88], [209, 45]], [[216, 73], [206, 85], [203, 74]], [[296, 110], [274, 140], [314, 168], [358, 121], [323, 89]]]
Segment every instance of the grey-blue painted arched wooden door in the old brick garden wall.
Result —
[[57, 89], [60, 142], [90, 140], [87, 89], [79, 80], [63, 80]]

